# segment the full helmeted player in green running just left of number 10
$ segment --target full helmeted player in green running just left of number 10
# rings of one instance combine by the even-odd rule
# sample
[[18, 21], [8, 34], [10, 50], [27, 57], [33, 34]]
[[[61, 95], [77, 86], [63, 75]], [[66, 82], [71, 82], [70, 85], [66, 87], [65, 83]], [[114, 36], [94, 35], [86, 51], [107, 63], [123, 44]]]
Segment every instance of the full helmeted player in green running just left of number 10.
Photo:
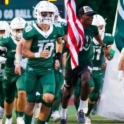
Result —
[[15, 92], [17, 92], [17, 124], [24, 124], [23, 113], [26, 102], [26, 93], [24, 91], [24, 75], [21, 76], [15, 74], [15, 50], [16, 45], [22, 37], [22, 30], [25, 26], [25, 20], [22, 18], [14, 18], [10, 23], [11, 35], [4, 35], [0, 38], [0, 51], [5, 53], [7, 58], [3, 75], [3, 90], [5, 93], [5, 124], [12, 124], [12, 110], [15, 98]]

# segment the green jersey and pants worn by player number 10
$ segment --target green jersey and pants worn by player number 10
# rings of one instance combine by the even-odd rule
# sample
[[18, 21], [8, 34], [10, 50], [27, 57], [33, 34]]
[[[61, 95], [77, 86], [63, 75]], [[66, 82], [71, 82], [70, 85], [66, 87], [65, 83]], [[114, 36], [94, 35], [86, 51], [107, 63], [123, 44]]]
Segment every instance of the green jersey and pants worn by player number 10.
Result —
[[[23, 31], [25, 40], [33, 40], [31, 51], [34, 53], [43, 50], [49, 50], [48, 58], [33, 58], [28, 59], [26, 68], [26, 92], [29, 102], [36, 101], [35, 86], [40, 83], [43, 93], [55, 93], [55, 78], [54, 78], [54, 60], [53, 53], [55, 51], [56, 40], [64, 35], [61, 27], [52, 25], [47, 32], [39, 29], [37, 24], [27, 25]], [[29, 87], [30, 86], [30, 87]]]

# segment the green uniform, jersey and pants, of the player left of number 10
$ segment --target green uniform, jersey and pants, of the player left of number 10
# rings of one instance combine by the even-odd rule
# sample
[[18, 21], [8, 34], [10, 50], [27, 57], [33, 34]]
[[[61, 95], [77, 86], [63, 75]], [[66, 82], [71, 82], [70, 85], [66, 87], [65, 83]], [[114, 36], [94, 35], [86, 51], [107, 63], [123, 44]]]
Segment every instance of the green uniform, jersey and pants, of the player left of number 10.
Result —
[[15, 51], [17, 41], [14, 40], [12, 36], [4, 35], [0, 38], [0, 47], [7, 49], [5, 57], [7, 58], [5, 62], [4, 74], [3, 74], [3, 90], [5, 94], [5, 100], [7, 103], [14, 101], [16, 90], [24, 90], [24, 74], [21, 76], [15, 74], [14, 61], [15, 61]]

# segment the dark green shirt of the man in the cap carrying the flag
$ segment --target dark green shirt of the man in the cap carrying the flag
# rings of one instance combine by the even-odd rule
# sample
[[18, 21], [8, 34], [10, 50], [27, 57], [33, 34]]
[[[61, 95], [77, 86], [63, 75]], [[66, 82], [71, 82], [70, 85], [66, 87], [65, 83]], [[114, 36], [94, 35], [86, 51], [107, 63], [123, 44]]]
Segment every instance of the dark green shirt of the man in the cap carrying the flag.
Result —
[[[98, 28], [96, 26], [90, 25], [88, 28], [84, 29], [85, 33], [85, 43], [84, 48], [78, 54], [79, 65], [82, 66], [85, 63], [92, 60], [93, 57], [93, 37], [98, 35]], [[70, 54], [67, 52], [66, 58], [66, 68], [71, 68]]]

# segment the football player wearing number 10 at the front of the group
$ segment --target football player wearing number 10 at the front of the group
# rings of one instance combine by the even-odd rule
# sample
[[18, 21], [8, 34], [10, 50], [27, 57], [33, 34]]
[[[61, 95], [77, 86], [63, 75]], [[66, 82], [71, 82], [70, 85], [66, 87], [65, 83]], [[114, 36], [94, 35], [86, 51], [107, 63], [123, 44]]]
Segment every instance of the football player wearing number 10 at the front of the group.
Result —
[[[27, 25], [23, 31], [22, 54], [28, 58], [26, 68], [27, 105], [25, 123], [31, 123], [36, 100], [35, 87], [40, 84], [43, 91], [40, 97], [42, 107], [38, 116], [38, 124], [45, 124], [50, 113], [55, 93], [53, 53], [56, 41], [62, 44], [64, 31], [53, 25], [54, 8], [50, 2], [41, 1], [37, 7], [37, 23]], [[60, 53], [56, 53], [55, 68], [59, 67]], [[30, 85], [30, 87], [29, 87]]]

